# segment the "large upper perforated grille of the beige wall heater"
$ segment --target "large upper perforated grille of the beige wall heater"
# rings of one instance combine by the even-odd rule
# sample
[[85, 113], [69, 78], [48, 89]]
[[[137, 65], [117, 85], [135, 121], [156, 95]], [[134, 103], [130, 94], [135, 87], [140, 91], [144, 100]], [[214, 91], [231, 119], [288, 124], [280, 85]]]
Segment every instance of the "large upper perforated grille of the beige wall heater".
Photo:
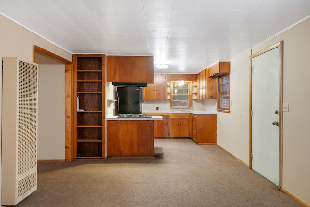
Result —
[[18, 175], [36, 167], [37, 66], [19, 61]]

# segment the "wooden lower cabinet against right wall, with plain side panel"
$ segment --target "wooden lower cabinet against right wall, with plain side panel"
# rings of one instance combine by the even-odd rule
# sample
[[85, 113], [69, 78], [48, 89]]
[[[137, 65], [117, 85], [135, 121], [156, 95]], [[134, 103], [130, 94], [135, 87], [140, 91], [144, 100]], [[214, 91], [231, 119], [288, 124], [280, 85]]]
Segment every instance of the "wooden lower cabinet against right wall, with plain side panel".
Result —
[[192, 139], [201, 145], [216, 145], [217, 115], [192, 115]]

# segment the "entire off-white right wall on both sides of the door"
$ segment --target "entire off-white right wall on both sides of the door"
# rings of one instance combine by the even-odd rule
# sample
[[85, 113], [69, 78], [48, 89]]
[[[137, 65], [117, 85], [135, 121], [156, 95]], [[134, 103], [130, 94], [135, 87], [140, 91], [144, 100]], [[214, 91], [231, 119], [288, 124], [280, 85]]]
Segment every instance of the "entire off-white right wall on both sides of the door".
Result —
[[[252, 48], [252, 53], [284, 40], [283, 103], [283, 177], [282, 187], [310, 205], [310, 18]], [[249, 163], [249, 55], [231, 61], [230, 114], [217, 115], [217, 143]], [[244, 93], [244, 95], [243, 95]], [[238, 112], [242, 111], [242, 118]], [[237, 130], [239, 129], [239, 130]]]

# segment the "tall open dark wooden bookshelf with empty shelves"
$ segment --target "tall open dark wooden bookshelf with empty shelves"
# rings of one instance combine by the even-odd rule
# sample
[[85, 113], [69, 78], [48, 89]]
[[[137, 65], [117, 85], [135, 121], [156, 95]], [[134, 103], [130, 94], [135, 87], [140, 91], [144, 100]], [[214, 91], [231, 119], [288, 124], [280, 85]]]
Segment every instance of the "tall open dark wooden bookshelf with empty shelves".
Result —
[[105, 158], [105, 55], [73, 55], [74, 158]]

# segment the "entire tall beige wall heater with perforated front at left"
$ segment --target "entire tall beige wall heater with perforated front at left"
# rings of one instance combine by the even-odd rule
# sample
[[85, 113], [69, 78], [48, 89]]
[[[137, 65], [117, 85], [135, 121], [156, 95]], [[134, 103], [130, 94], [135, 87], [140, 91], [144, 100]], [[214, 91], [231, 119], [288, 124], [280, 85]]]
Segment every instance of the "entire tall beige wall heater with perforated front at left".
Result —
[[38, 64], [3, 57], [2, 206], [37, 189]]

